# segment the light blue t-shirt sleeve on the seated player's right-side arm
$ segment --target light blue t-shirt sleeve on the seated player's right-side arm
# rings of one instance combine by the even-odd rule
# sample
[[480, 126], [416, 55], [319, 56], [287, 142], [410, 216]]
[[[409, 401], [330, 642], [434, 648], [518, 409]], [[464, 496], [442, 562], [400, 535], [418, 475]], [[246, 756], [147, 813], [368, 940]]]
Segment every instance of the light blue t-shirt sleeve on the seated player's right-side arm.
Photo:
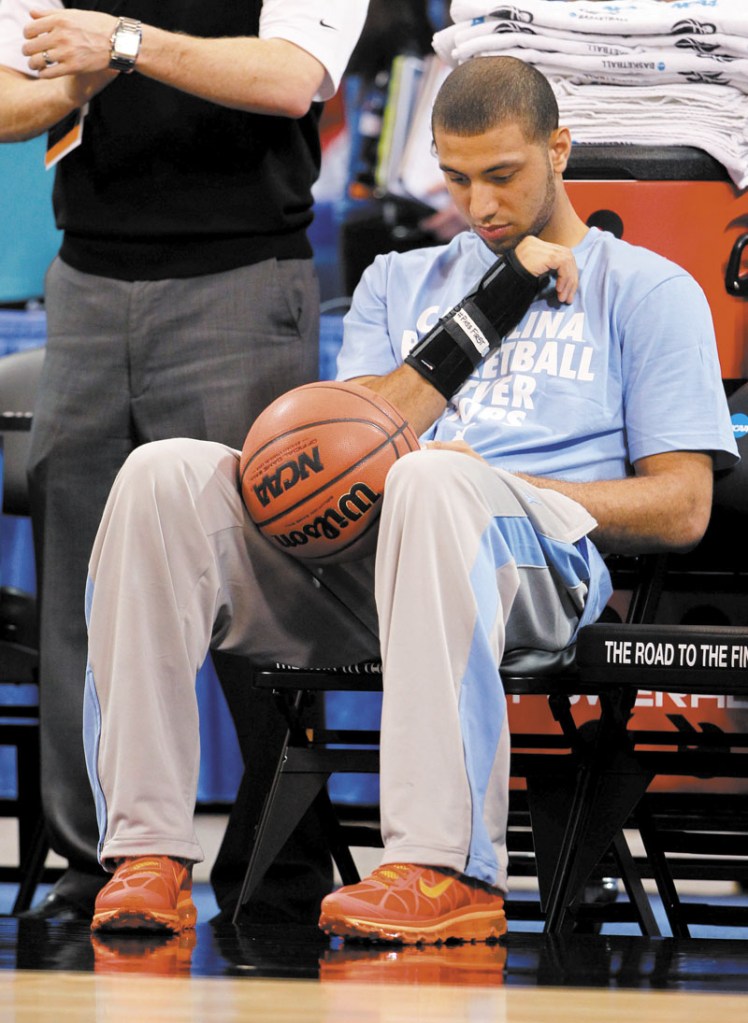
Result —
[[665, 278], [627, 312], [622, 372], [631, 461], [709, 451], [715, 469], [735, 463], [711, 312], [688, 274]]

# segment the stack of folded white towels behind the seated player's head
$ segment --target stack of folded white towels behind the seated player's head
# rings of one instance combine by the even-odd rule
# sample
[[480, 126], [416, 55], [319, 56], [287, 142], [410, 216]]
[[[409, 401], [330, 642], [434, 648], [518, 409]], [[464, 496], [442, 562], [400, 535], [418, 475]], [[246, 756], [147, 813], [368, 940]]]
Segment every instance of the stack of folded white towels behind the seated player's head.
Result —
[[551, 81], [576, 142], [691, 145], [748, 187], [748, 0], [452, 0], [434, 49]]

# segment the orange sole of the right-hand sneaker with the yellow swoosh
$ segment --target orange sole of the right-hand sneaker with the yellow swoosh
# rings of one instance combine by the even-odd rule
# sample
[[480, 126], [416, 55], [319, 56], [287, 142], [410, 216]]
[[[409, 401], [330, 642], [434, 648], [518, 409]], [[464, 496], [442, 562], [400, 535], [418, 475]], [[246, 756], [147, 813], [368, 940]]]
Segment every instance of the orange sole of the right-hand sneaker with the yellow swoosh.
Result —
[[356, 920], [353, 917], [331, 920], [322, 914], [319, 927], [325, 934], [339, 938], [398, 941], [404, 945], [439, 944], [449, 940], [487, 941], [490, 938], [500, 938], [507, 933], [507, 917], [503, 910], [496, 909], [476, 914], [456, 910], [454, 916], [447, 915], [426, 925], [404, 921], [383, 924], [371, 920]]

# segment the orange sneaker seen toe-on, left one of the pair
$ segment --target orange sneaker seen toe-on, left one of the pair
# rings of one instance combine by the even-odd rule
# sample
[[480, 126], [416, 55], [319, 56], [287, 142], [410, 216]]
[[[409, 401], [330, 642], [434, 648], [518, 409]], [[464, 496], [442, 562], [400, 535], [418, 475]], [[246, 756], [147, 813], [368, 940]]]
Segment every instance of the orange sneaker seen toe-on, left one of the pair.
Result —
[[96, 896], [92, 931], [179, 934], [194, 927], [192, 873], [169, 856], [124, 859]]

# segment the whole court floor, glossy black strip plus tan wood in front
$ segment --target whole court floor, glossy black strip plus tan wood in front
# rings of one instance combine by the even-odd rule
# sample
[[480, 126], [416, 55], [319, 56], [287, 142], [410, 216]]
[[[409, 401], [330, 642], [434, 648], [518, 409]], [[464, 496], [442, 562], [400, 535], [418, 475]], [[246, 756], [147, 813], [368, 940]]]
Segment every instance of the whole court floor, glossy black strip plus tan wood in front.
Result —
[[0, 918], [2, 1023], [704, 1023], [748, 1019], [745, 939], [346, 945], [313, 927], [213, 924], [92, 938]]

